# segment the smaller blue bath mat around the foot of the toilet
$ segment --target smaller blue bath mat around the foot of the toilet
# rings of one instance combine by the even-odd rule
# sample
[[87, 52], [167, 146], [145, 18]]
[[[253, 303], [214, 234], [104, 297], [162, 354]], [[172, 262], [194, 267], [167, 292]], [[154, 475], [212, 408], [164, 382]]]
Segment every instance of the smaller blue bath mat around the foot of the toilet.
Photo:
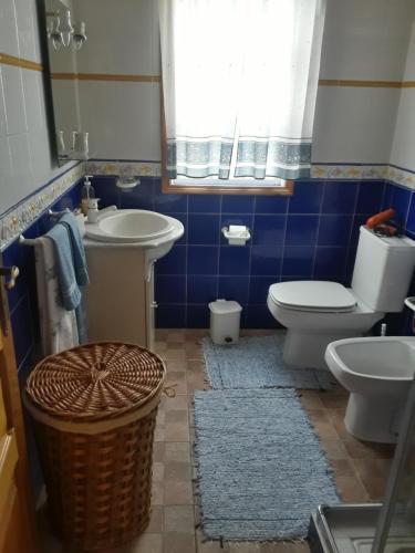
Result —
[[282, 359], [282, 333], [242, 337], [237, 344], [216, 345], [203, 338], [206, 369], [214, 389], [302, 388], [330, 389], [330, 371], [289, 368]]

